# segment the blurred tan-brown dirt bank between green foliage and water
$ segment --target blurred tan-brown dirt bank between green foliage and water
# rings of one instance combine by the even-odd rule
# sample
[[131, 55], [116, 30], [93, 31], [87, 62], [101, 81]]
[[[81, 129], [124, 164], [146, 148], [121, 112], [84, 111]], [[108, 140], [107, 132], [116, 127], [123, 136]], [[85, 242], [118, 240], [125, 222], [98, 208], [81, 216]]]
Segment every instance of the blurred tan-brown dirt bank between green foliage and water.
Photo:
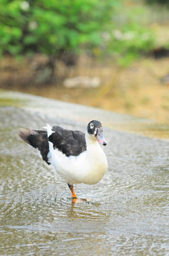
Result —
[[[31, 61], [1, 60], [1, 88], [169, 122], [169, 58], [141, 59], [122, 68], [116, 63], [99, 62], [82, 55], [77, 65], [69, 68], [57, 62], [54, 71], [57, 82], [52, 84], [47, 83], [49, 70], [36, 70], [40, 63], [43, 67], [45, 61], [40, 55]], [[66, 78], [79, 76], [98, 78], [100, 85], [64, 87]]]

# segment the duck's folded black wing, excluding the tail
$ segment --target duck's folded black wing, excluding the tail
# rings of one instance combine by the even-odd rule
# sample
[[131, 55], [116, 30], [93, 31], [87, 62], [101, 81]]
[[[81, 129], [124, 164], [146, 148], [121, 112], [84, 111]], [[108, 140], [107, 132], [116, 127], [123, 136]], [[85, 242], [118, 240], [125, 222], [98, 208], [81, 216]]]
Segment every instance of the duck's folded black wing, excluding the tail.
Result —
[[86, 151], [85, 134], [79, 131], [71, 131], [62, 127], [52, 127], [53, 133], [49, 136], [54, 149], [62, 151], [66, 156], [78, 156]]

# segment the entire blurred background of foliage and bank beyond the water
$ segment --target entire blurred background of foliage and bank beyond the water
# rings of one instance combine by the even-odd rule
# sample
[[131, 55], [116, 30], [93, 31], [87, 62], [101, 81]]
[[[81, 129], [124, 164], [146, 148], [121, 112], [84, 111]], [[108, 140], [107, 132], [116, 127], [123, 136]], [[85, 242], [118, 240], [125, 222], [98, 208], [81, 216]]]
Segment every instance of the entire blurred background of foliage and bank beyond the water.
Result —
[[1, 0], [0, 87], [169, 122], [167, 0]]

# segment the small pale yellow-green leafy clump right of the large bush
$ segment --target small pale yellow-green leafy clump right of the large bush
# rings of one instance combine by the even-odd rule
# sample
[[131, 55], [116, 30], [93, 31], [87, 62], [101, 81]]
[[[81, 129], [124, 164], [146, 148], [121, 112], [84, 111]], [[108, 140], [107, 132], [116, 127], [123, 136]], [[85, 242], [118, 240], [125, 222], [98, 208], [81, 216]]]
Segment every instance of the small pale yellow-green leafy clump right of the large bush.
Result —
[[153, 33], [138, 23], [128, 23], [112, 33], [108, 47], [120, 65], [129, 65], [140, 55], [148, 54], [154, 44]]

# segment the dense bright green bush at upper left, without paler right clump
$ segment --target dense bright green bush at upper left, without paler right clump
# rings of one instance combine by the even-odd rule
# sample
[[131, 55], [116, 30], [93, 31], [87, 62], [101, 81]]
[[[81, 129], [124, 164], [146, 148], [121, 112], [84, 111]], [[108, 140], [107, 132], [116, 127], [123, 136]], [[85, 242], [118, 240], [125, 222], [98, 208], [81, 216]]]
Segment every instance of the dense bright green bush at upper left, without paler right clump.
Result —
[[117, 0], [1, 0], [1, 54], [46, 53], [99, 46]]

